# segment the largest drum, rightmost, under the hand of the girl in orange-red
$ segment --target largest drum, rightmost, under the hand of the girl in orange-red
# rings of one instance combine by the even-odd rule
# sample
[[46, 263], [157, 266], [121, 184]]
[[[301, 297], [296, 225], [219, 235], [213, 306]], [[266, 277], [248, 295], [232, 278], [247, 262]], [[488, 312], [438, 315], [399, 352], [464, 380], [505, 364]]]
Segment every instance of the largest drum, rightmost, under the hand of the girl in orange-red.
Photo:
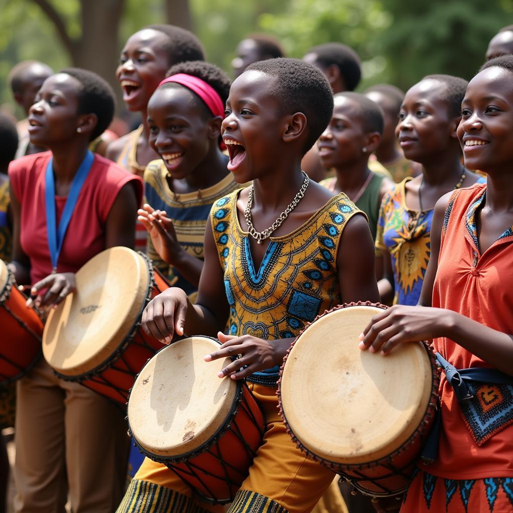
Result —
[[386, 357], [358, 349], [359, 333], [384, 308], [360, 302], [320, 315], [291, 345], [278, 382], [294, 443], [374, 497], [406, 489], [435, 417], [439, 385], [425, 343], [401, 344]]

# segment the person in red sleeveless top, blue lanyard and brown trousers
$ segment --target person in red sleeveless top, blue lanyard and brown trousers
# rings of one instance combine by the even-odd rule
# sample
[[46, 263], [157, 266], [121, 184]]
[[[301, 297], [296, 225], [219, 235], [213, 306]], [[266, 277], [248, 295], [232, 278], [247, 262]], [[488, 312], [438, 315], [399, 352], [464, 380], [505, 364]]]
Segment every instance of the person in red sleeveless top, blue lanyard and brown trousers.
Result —
[[[114, 113], [99, 76], [67, 69], [43, 83], [30, 108], [33, 144], [50, 151], [11, 163], [13, 260], [42, 308], [74, 291], [74, 273], [111, 246], [133, 247], [142, 180], [88, 150]], [[124, 490], [123, 413], [53, 375], [40, 361], [17, 382], [15, 511], [111, 513]]]

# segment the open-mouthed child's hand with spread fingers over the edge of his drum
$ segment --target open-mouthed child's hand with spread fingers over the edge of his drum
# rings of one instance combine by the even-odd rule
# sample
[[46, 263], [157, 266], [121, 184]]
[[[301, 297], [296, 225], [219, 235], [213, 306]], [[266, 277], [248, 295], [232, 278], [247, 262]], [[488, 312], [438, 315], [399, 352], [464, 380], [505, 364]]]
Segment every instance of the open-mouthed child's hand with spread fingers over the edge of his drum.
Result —
[[205, 361], [211, 362], [239, 354], [240, 357], [237, 360], [227, 365], [218, 374], [220, 378], [230, 376], [232, 380], [241, 380], [258, 370], [269, 369], [281, 364], [290, 347], [288, 339], [269, 341], [251, 335], [242, 337], [225, 335], [221, 331], [218, 333], [218, 339], [223, 345], [219, 351], [207, 354]]

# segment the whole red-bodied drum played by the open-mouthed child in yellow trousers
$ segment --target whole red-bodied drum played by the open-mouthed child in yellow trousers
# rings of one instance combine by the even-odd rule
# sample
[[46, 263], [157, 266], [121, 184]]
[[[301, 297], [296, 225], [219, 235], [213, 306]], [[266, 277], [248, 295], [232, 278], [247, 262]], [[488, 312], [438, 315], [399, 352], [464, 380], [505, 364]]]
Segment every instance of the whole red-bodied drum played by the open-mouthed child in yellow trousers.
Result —
[[233, 500], [264, 432], [263, 413], [246, 384], [217, 376], [231, 360], [203, 360], [219, 344], [190, 337], [164, 347], [143, 367], [128, 401], [130, 433], [140, 450], [212, 504]]

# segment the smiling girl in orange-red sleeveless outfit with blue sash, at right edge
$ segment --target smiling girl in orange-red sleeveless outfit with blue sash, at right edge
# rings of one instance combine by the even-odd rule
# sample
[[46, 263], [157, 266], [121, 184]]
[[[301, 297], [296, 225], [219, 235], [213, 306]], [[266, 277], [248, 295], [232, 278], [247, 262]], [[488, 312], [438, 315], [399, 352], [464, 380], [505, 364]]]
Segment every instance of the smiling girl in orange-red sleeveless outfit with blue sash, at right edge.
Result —
[[[512, 81], [513, 55], [503, 55], [467, 87], [458, 137], [465, 167], [487, 183], [438, 201], [422, 308], [394, 306], [361, 336], [362, 349], [382, 354], [434, 339], [444, 369], [436, 460], [413, 477], [402, 513], [513, 509]], [[459, 384], [451, 366], [472, 381]]]

